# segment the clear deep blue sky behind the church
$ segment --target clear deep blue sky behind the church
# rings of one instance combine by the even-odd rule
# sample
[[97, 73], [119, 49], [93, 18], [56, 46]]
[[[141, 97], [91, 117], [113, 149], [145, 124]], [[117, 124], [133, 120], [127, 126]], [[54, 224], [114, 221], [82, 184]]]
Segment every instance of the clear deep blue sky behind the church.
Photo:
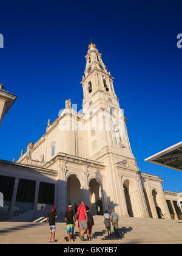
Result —
[[4, 1], [0, 83], [16, 94], [0, 128], [0, 158], [17, 160], [66, 98], [81, 108], [88, 38], [114, 79], [141, 172], [182, 191], [182, 172], [144, 159], [181, 141], [181, 1]]

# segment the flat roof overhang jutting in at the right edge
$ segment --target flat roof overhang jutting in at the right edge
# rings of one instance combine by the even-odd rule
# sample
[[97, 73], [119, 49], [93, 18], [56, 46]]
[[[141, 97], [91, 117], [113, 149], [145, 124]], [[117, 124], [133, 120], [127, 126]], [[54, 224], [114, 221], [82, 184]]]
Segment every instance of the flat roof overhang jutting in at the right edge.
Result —
[[182, 171], [182, 141], [146, 158], [145, 161]]

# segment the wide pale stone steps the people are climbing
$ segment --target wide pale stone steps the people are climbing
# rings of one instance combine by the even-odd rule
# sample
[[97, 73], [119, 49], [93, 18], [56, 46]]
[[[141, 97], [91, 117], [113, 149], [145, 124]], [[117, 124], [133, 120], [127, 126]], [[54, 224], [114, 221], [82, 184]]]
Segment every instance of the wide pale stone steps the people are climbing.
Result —
[[[62, 222], [63, 217], [58, 216], [56, 219], [55, 244], [182, 244], [182, 221], [180, 220], [120, 218], [120, 238], [118, 238], [114, 232], [112, 232], [112, 236], [107, 235], [103, 216], [93, 216], [95, 225], [92, 229], [92, 241], [79, 239], [79, 230], [76, 224], [75, 242], [69, 242], [66, 223]], [[42, 222], [46, 221], [44, 218], [36, 219], [34, 222], [0, 222], [0, 244], [47, 244], [50, 232], [47, 222]]]

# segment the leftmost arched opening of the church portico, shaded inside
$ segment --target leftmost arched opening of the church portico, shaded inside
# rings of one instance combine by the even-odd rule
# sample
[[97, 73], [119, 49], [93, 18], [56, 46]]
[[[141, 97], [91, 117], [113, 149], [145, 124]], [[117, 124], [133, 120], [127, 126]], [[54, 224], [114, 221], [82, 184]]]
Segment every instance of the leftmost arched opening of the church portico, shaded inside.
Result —
[[[74, 207], [75, 203], [79, 205], [82, 200], [81, 184], [76, 174], [71, 174], [67, 179], [67, 207], [69, 204]], [[73, 208], [74, 210], [74, 208]]]

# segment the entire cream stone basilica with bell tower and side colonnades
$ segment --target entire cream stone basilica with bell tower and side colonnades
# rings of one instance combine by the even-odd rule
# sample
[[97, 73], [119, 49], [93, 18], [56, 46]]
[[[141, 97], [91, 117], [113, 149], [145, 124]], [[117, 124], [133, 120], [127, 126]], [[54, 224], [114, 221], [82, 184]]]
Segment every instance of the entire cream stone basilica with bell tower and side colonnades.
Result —
[[1, 218], [4, 209], [4, 219], [33, 219], [52, 205], [62, 214], [81, 200], [93, 215], [115, 209], [123, 217], [180, 218], [177, 193], [163, 191], [163, 179], [137, 166], [113, 77], [92, 41], [85, 59], [83, 109], [66, 99], [16, 162], [0, 160]]

